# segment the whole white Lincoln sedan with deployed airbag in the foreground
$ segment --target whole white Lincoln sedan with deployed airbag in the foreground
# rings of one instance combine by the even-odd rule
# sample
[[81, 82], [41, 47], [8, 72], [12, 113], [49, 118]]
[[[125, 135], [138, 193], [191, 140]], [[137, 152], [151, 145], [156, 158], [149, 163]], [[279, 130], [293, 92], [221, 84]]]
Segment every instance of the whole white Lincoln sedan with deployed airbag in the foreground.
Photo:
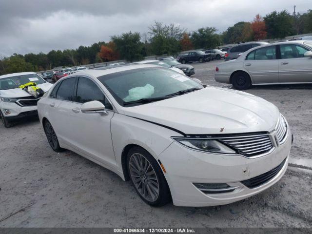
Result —
[[130, 179], [153, 206], [221, 205], [260, 193], [284, 175], [292, 145], [272, 103], [156, 65], [69, 75], [38, 112], [54, 151]]

